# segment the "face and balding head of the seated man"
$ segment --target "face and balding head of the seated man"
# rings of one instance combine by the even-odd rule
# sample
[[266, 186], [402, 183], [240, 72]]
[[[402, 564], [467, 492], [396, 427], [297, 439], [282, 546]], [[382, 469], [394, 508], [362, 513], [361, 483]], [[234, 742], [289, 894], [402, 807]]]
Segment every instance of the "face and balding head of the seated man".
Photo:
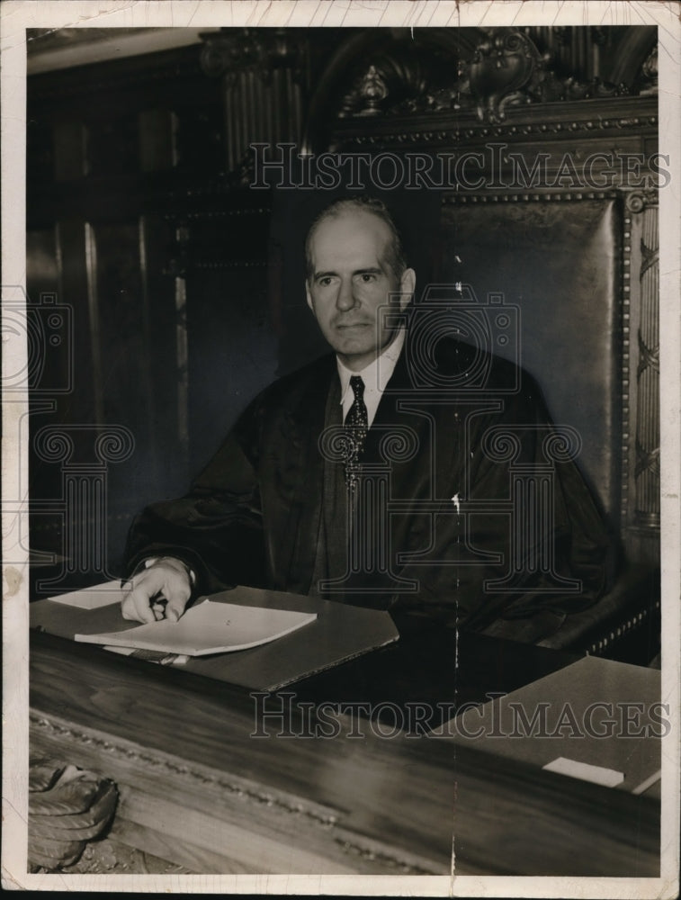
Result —
[[[353, 372], [390, 344], [378, 309], [390, 300], [404, 309], [414, 293], [415, 275], [400, 279], [386, 261], [390, 229], [371, 212], [347, 210], [323, 221], [310, 242], [312, 275], [306, 284], [308, 305], [322, 334]], [[381, 318], [384, 318], [381, 316]]]

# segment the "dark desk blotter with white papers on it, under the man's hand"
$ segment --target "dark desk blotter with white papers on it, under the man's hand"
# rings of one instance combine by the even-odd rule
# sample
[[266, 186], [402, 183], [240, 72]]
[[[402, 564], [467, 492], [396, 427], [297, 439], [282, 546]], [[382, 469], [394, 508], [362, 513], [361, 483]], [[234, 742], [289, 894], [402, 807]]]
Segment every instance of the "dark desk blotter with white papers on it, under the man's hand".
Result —
[[35, 600], [31, 629], [248, 690], [280, 689], [399, 637], [383, 609], [279, 590], [240, 585], [198, 598], [179, 622], [144, 626], [121, 617], [123, 596], [108, 581]]

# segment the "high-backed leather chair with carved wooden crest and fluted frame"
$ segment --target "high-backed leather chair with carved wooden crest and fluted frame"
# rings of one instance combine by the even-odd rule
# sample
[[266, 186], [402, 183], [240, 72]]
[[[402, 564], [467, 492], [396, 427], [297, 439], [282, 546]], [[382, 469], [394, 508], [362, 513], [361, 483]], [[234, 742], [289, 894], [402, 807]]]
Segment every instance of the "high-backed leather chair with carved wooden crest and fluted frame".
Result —
[[[567, 31], [355, 35], [319, 80], [306, 133], [316, 153], [475, 158], [477, 186], [440, 185], [434, 280], [517, 305], [519, 347], [491, 349], [517, 358], [553, 419], [577, 429], [578, 465], [618, 550], [614, 587], [592, 608], [490, 633], [648, 662], [659, 639], [660, 181], [646, 177], [656, 34]], [[541, 154], [544, 175], [518, 184], [511, 157], [529, 171]], [[617, 165], [627, 157], [638, 174]], [[565, 160], [590, 180], [557, 177]]]

